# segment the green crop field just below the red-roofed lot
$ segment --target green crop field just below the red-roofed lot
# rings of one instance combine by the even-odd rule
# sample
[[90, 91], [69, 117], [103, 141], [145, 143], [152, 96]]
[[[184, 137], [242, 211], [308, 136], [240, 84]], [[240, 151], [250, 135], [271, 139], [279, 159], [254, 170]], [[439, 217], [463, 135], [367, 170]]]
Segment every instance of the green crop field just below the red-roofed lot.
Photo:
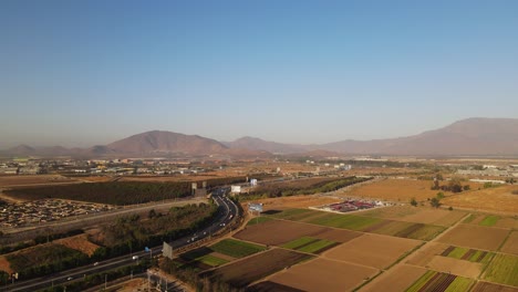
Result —
[[382, 222], [383, 219], [362, 217], [354, 215], [338, 215], [338, 213], [327, 213], [324, 216], [309, 220], [309, 223], [327, 226], [327, 227], [336, 227], [350, 230], [362, 230], [370, 226]]

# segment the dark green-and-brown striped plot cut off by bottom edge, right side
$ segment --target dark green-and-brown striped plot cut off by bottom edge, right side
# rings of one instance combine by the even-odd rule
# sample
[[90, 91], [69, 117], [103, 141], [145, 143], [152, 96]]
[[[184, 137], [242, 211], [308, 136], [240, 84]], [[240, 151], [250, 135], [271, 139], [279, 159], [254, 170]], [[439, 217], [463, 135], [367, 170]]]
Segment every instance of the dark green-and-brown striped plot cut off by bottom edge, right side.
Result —
[[406, 291], [468, 291], [475, 281], [448, 273], [427, 271]]

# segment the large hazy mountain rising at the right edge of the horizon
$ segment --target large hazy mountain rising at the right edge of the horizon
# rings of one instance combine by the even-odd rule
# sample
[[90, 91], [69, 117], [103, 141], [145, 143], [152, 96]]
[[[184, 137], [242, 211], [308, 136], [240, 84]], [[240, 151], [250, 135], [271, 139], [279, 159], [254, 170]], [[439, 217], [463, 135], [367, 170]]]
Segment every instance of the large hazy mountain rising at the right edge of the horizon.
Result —
[[375, 140], [343, 140], [321, 148], [379, 155], [518, 155], [517, 118], [468, 118], [418, 135]]

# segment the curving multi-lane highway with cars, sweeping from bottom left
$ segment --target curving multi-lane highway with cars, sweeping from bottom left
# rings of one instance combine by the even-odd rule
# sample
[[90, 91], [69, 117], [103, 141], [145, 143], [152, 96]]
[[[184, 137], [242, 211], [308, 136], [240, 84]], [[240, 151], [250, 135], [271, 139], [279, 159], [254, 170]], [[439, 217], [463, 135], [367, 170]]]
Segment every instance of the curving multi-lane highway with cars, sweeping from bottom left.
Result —
[[[193, 242], [210, 237], [215, 232], [225, 228], [225, 226], [227, 226], [236, 218], [238, 215], [238, 206], [232, 200], [228, 199], [226, 195], [228, 191], [229, 188], [217, 188], [213, 191], [213, 198], [218, 205], [218, 213], [214, 222], [205, 229], [200, 229], [193, 234], [169, 242], [169, 244], [173, 246], [173, 249], [183, 248], [185, 246], [191, 244]], [[158, 247], [151, 248], [148, 252], [144, 250], [133, 252], [132, 254], [113, 258], [99, 263], [93, 263], [32, 280], [18, 282], [14, 280], [15, 282], [13, 284], [11, 283], [6, 286], [0, 286], [0, 291], [37, 291], [53, 285], [62, 285], [90, 274], [102, 273], [104, 271], [136, 263], [136, 261], [141, 260], [143, 257], [152, 258], [153, 255], [162, 254], [162, 249], [163, 246], [160, 244]], [[137, 257], [137, 259], [134, 259], [135, 257]], [[107, 280], [110, 281], [110, 279]]]

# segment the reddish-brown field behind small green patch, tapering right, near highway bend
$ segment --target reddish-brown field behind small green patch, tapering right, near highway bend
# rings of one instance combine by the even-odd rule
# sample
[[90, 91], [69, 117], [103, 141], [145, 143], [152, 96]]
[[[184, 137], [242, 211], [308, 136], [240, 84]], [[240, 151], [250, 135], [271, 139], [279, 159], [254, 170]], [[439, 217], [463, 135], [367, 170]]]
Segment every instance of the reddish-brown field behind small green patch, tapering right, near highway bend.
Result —
[[[339, 232], [341, 231], [341, 232]], [[301, 237], [318, 237], [329, 240], [345, 242], [361, 233], [348, 230], [333, 230], [284, 220], [270, 220], [260, 225], [247, 226], [246, 229], [235, 234], [235, 238], [253, 241], [262, 244], [279, 246]]]

